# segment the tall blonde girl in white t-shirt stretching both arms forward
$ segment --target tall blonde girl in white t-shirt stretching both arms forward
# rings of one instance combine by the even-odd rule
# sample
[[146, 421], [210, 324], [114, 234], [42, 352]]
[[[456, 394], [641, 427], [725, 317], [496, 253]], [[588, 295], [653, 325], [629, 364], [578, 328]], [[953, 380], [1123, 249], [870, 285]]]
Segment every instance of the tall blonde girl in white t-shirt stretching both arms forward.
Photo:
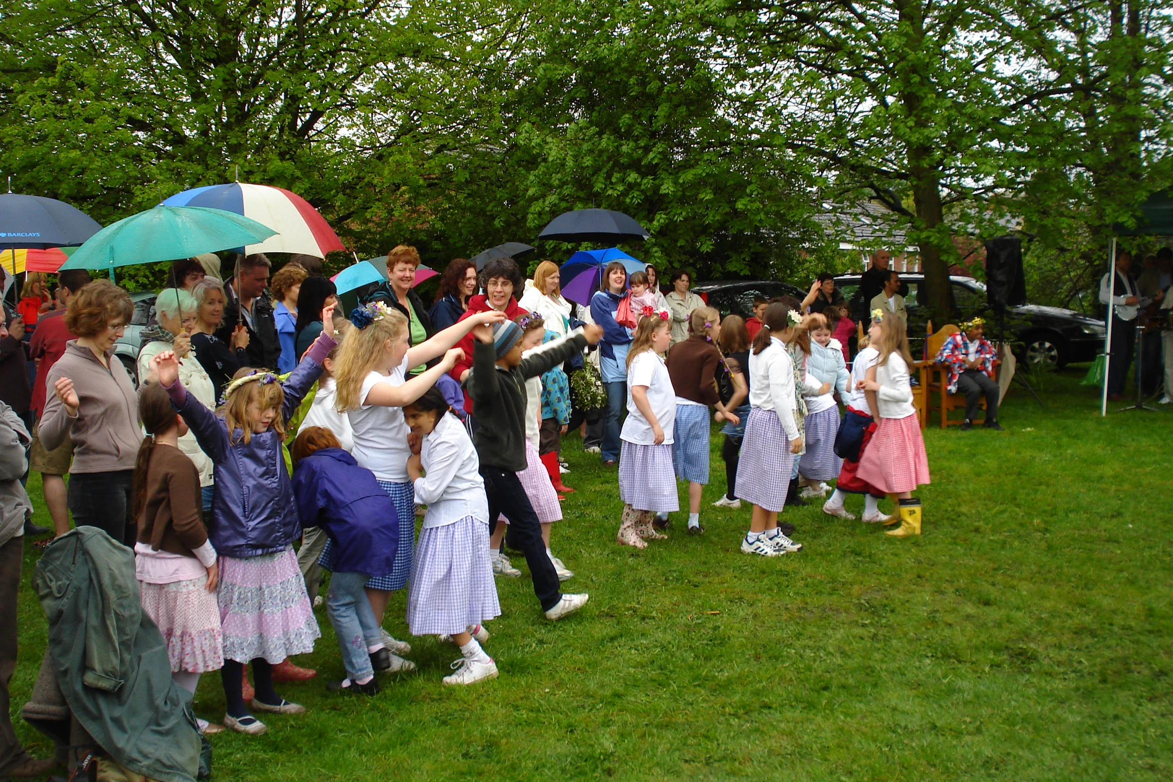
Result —
[[[391, 496], [400, 524], [392, 572], [372, 576], [366, 583], [371, 607], [380, 624], [391, 592], [407, 585], [415, 550], [415, 491], [407, 474], [412, 450], [401, 408], [422, 396], [465, 356], [463, 351], [453, 346], [474, 326], [504, 319], [506, 314], [496, 310], [479, 312], [412, 346], [407, 318], [398, 310], [375, 301], [351, 311], [352, 326], [334, 361], [334, 409], [350, 419], [354, 437], [351, 454], [360, 467], [374, 472], [380, 488]], [[408, 367], [435, 359], [439, 361], [428, 369], [407, 378]], [[321, 555], [327, 570], [332, 551], [327, 543]], [[392, 671], [415, 667], [399, 657], [411, 652], [408, 644], [389, 635], [384, 641], [394, 653], [391, 655]]]

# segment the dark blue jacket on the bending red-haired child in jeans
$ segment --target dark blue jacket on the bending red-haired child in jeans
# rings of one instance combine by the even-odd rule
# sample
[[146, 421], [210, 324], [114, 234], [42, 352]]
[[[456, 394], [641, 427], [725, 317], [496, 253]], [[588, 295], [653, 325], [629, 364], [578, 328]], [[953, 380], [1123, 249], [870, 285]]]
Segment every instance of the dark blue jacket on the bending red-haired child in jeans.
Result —
[[341, 448], [317, 450], [293, 468], [293, 498], [303, 526], [334, 542], [334, 572], [384, 576], [394, 569], [399, 517], [374, 472]]

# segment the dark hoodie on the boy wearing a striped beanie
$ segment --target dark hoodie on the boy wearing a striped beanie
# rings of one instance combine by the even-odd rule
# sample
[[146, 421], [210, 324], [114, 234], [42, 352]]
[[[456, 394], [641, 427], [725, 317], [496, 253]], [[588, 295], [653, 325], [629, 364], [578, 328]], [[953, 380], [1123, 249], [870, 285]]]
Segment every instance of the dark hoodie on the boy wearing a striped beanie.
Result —
[[481, 464], [510, 472], [526, 469], [526, 380], [544, 374], [586, 347], [582, 329], [534, 348], [513, 369], [499, 367], [491, 345], [474, 340], [473, 370], [465, 380], [473, 399], [473, 443]]

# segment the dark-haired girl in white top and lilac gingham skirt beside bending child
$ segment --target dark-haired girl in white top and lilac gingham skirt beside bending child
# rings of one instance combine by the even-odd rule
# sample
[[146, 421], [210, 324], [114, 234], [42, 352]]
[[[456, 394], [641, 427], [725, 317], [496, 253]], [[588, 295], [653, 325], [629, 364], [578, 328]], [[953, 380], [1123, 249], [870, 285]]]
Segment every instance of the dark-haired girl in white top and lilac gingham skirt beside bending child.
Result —
[[446, 685], [472, 685], [497, 675], [481, 648], [481, 627], [501, 616], [489, 562], [489, 504], [480, 460], [465, 424], [448, 412], [438, 388], [404, 407], [411, 429], [407, 474], [415, 498], [428, 506], [415, 549], [407, 624], [413, 635], [450, 638], [460, 647]]

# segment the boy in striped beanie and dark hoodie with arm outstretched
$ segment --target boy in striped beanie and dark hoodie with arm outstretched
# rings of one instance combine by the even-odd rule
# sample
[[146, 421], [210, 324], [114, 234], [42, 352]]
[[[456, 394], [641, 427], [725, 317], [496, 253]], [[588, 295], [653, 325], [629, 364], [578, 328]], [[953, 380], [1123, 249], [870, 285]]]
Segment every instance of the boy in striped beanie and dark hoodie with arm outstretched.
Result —
[[481, 477], [489, 501], [489, 531], [491, 533], [491, 528], [500, 523], [500, 514], [509, 519], [510, 544], [526, 555], [534, 578], [534, 593], [545, 618], [561, 619], [586, 605], [589, 596], [558, 591], [558, 574], [545, 555], [541, 524], [517, 480], [517, 472], [526, 469], [526, 380], [561, 365], [586, 345], [595, 345], [603, 329], [598, 326], [576, 328], [536, 348], [527, 359], [521, 358], [521, 327], [513, 321], [495, 327], [477, 326], [473, 335], [476, 338], [473, 370], [465, 385], [476, 410], [479, 426], [473, 443], [481, 460]]

